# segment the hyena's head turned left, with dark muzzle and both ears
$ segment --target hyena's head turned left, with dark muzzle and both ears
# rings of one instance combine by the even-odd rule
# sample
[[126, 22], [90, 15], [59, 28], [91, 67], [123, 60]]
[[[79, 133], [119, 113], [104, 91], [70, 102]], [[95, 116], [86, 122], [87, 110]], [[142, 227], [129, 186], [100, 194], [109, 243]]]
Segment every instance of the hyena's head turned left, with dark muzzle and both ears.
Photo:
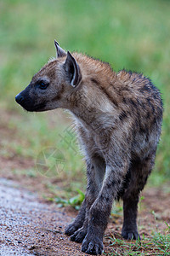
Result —
[[48, 62], [31, 79], [15, 100], [27, 111], [46, 111], [67, 108], [67, 96], [82, 80], [80, 68], [75, 58], [54, 41], [57, 58]]

